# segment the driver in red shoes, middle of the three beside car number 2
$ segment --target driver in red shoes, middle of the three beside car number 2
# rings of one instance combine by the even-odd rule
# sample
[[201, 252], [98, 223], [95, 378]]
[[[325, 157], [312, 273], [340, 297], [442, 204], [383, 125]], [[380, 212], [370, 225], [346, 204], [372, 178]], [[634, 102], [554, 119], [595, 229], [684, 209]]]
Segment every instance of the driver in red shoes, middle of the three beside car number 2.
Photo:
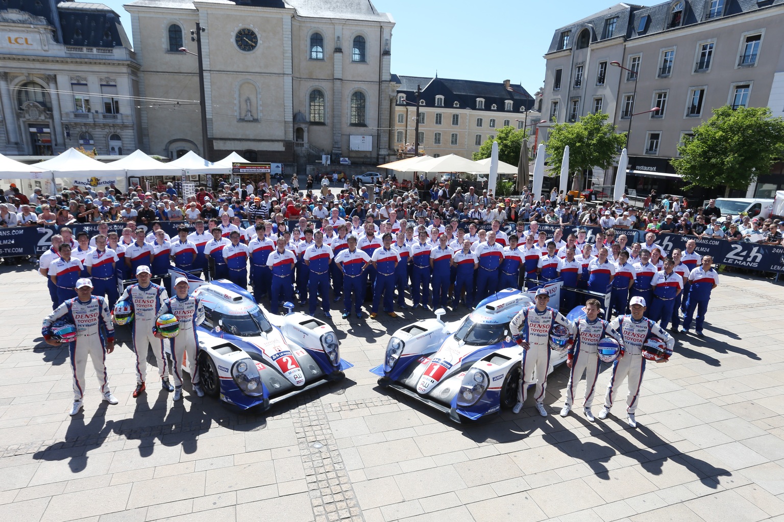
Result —
[[133, 351], [136, 353], [136, 390], [133, 397], [139, 395], [147, 388], [147, 346], [152, 347], [152, 352], [158, 361], [158, 375], [161, 376], [161, 387], [165, 391], [174, 391], [169, 383], [169, 373], [166, 372], [166, 355], [163, 352], [163, 340], [155, 337], [153, 331], [155, 319], [161, 315], [161, 305], [169, 297], [163, 286], [150, 282], [152, 272], [148, 266], [136, 268], [138, 283], [125, 288], [120, 296], [120, 301], [126, 301], [133, 309], [133, 325], [131, 326], [131, 339]]

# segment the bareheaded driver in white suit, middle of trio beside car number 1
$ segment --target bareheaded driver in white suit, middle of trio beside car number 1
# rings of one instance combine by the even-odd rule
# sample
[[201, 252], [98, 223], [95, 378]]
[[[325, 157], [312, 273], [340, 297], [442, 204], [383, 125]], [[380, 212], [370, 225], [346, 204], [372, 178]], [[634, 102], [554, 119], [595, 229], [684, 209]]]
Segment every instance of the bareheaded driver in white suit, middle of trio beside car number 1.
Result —
[[[624, 301], [625, 303], [626, 301]], [[583, 403], [583, 414], [593, 423], [593, 391], [596, 389], [596, 380], [599, 376], [599, 341], [602, 337], [610, 336], [619, 343], [622, 341], [618, 332], [608, 327], [608, 322], [599, 319], [601, 303], [597, 299], [586, 301], [586, 318], [575, 323], [575, 344], [569, 347], [566, 365], [571, 368], [569, 383], [566, 386], [566, 402], [561, 409], [561, 416], [568, 416], [575, 401], [577, 384], [586, 374], [586, 400]]]

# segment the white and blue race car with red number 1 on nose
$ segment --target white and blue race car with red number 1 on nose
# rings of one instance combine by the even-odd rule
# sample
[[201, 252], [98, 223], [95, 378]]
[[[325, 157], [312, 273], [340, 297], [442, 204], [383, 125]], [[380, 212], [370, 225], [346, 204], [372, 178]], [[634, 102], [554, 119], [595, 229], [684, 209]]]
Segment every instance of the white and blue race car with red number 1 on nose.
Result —
[[[555, 297], [561, 284], [546, 287], [552, 286]], [[521, 290], [501, 290], [453, 322], [441, 321], [444, 311], [438, 310], [436, 319], [398, 329], [387, 344], [383, 364], [370, 371], [380, 377], [379, 385], [446, 412], [457, 422], [512, 408], [522, 351], [512, 340], [509, 323], [532, 304], [532, 297]], [[566, 351], [554, 351], [548, 374], [565, 360]]]

